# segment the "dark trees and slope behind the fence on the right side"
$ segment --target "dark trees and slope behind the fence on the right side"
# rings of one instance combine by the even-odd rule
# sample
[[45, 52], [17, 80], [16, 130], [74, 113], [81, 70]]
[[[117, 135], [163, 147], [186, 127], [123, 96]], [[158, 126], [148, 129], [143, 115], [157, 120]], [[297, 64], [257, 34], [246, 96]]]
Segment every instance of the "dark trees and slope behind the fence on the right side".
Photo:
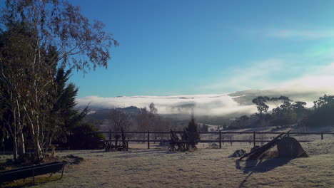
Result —
[[[320, 127], [334, 125], [334, 96], [323, 95], [313, 103], [313, 108], [305, 108], [303, 101], [293, 101], [286, 96], [268, 98], [258, 96], [252, 102], [258, 113], [236, 117], [226, 129], [247, 127], [268, 127], [297, 125], [300, 127]], [[270, 112], [268, 104], [275, 105]]]

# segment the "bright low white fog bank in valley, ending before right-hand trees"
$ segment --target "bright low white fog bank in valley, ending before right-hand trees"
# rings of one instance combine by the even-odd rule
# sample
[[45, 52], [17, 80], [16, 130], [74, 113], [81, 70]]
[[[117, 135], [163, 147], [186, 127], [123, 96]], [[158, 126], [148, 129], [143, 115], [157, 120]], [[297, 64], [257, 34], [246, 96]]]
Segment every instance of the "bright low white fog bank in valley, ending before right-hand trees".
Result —
[[112, 108], [137, 106], [143, 108], [150, 103], [155, 103], [158, 113], [191, 113], [191, 109], [196, 114], [201, 115], [226, 115], [229, 113], [249, 113], [255, 112], [253, 105], [239, 105], [228, 94], [223, 95], [174, 95], [174, 96], [133, 96], [103, 98], [98, 96], [88, 96], [79, 98], [78, 105], [91, 103], [92, 107]]

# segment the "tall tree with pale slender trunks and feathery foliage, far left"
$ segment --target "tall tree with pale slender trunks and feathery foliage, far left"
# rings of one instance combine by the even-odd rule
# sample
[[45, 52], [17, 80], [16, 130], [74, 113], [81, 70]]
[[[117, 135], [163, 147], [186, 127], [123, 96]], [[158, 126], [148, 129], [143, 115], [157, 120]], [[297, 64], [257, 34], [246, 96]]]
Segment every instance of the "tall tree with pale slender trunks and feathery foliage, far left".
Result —
[[[52, 110], [56, 67], [84, 73], [107, 68], [110, 48], [118, 42], [103, 31], [103, 23], [88, 21], [69, 1], [7, 0], [5, 5], [0, 16], [0, 82], [6, 93], [1, 98], [14, 119], [6, 127], [23, 146], [24, 135], [29, 135], [40, 161], [63, 123]], [[22, 132], [24, 127], [29, 132]]]

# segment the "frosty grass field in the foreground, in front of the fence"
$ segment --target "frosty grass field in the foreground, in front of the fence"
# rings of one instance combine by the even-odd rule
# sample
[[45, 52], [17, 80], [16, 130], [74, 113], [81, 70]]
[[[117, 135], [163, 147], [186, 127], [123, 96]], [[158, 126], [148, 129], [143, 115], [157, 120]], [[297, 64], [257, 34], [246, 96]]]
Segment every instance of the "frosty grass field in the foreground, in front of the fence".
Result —
[[[333, 187], [333, 144], [333, 139], [302, 143], [310, 157], [261, 162], [228, 157], [238, 149], [248, 152], [246, 144], [222, 149], [201, 145], [195, 152], [168, 152], [166, 147], [57, 152], [85, 160], [67, 165], [63, 179], [34, 187]], [[146, 147], [132, 145], [141, 146]]]

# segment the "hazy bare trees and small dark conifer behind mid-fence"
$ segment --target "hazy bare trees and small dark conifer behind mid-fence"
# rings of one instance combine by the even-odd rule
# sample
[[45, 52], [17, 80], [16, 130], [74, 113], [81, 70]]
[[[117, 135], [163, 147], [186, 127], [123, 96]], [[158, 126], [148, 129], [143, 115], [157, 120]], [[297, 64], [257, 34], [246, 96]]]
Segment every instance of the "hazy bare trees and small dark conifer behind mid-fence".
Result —
[[[163, 117], [158, 114], [158, 109], [154, 103], [150, 103], [148, 107], [136, 108], [111, 108], [108, 114], [108, 119], [105, 120], [106, 125], [101, 127], [105, 131], [154, 131], [154, 132], [166, 132], [170, 130], [183, 131], [186, 130], [188, 134], [193, 137], [194, 140], [199, 140], [199, 132], [208, 132], [208, 125], [198, 125], [195, 122], [195, 116], [191, 114], [191, 118], [186, 124], [180, 125], [176, 120], [171, 117]], [[134, 111], [134, 112], [133, 112]], [[131, 137], [131, 134], [128, 135]], [[138, 136], [138, 135], [134, 135]], [[145, 135], [138, 137], [145, 139]], [[154, 140], [158, 140], [158, 137], [168, 137], [166, 134], [152, 133], [151, 137]], [[197, 144], [197, 143], [196, 143]]]

